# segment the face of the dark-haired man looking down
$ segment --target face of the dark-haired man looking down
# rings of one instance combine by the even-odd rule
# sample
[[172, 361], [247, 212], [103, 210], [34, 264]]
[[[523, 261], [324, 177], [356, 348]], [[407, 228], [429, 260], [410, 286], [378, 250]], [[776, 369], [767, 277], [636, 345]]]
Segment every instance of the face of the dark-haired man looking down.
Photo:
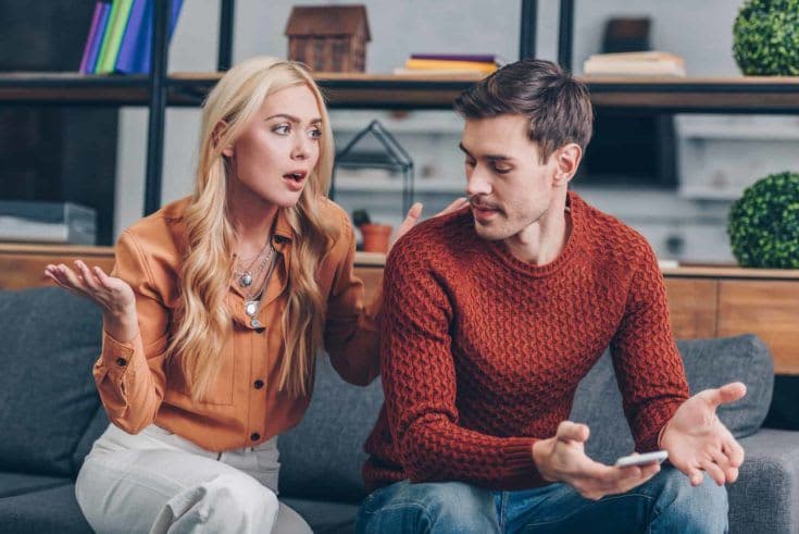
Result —
[[538, 160], [523, 115], [469, 119], [461, 136], [466, 158], [466, 196], [475, 231], [484, 239], [508, 239], [536, 223], [553, 197], [555, 158]]

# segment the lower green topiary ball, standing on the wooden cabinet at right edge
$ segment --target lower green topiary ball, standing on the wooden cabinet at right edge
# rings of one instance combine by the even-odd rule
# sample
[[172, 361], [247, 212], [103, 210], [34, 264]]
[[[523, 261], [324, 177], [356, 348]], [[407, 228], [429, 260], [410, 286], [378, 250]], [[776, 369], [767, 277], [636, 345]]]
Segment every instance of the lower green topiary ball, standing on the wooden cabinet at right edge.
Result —
[[771, 174], [729, 210], [729, 244], [742, 266], [799, 269], [799, 174]]

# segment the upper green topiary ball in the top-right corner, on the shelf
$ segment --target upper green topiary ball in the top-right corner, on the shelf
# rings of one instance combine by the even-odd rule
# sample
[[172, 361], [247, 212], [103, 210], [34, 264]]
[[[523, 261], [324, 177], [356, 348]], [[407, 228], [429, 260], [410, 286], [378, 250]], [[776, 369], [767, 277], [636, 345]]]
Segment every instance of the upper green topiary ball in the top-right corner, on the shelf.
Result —
[[799, 0], [748, 0], [733, 25], [733, 57], [748, 76], [799, 75]]

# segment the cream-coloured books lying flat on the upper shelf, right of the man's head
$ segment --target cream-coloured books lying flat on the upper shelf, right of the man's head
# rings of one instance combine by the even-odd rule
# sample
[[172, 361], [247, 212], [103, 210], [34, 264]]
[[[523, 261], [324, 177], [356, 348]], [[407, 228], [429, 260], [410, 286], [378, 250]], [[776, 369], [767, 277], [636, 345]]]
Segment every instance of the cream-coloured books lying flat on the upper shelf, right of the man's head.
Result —
[[586, 76], [679, 76], [685, 61], [669, 52], [597, 53], [583, 63]]

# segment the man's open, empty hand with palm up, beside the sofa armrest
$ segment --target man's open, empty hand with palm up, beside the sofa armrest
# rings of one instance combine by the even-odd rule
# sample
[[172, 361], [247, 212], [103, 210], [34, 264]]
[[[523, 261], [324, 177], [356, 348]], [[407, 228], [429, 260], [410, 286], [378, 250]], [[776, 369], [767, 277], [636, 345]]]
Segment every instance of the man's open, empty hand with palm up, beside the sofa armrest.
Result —
[[738, 477], [744, 449], [719, 420], [715, 409], [744, 395], [746, 386], [740, 382], [699, 392], [683, 402], [666, 423], [660, 446], [669, 451], [669, 460], [692, 485], [702, 483], [702, 471], [720, 486]]

